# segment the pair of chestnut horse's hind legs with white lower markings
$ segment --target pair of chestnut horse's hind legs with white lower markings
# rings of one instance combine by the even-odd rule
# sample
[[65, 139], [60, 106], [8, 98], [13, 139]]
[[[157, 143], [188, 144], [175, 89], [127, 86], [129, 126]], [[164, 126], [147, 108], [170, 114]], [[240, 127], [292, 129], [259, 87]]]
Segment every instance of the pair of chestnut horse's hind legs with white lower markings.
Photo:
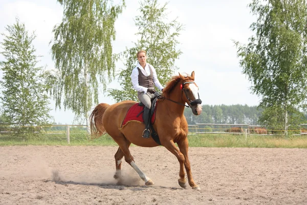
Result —
[[[114, 138], [114, 137], [113, 137]], [[149, 177], [146, 176], [142, 170], [138, 168], [136, 165], [133, 156], [131, 155], [129, 151], [129, 146], [131, 142], [129, 142], [126, 138], [114, 138], [114, 140], [117, 142], [119, 145], [119, 148], [115, 154], [115, 161], [116, 161], [116, 173], [114, 177], [119, 177], [121, 176], [121, 159], [122, 156], [125, 156], [125, 161], [139, 174], [141, 179], [145, 181], [145, 185], [150, 186], [155, 184]]]

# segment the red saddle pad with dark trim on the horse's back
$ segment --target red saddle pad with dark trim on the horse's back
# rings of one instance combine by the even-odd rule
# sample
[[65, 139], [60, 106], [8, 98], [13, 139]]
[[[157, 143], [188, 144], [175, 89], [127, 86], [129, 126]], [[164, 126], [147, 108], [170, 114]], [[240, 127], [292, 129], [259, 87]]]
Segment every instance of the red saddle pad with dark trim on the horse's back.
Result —
[[[153, 112], [152, 117], [151, 117], [151, 124], [153, 124], [156, 120], [157, 106], [158, 106], [158, 102], [156, 103], [155, 112]], [[134, 121], [134, 120], [144, 123], [143, 113], [141, 113], [142, 110], [144, 110], [144, 106], [139, 106], [139, 103], [136, 103], [131, 108], [129, 108], [121, 127], [124, 127], [125, 125], [127, 125], [128, 122]]]

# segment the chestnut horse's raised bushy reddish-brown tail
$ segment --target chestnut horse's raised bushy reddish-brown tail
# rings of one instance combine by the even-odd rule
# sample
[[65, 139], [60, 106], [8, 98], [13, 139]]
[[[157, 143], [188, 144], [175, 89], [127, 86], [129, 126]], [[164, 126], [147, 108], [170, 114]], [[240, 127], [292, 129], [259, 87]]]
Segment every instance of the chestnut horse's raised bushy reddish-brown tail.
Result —
[[109, 107], [106, 103], [101, 103], [96, 106], [90, 115], [91, 135], [92, 139], [98, 138], [106, 133], [103, 124], [102, 116], [105, 110]]

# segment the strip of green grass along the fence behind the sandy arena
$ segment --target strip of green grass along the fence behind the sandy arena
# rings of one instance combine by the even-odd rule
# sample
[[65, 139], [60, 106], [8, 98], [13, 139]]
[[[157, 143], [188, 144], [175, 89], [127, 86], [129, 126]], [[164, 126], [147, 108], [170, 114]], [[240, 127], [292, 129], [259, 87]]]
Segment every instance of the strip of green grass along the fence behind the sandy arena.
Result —
[[[190, 147], [250, 147], [250, 148], [307, 148], [307, 135], [236, 135], [236, 134], [199, 134], [188, 135]], [[91, 139], [85, 130], [72, 130], [70, 144], [65, 131], [52, 131], [28, 138], [0, 134], [0, 146], [63, 145], [63, 146], [117, 146], [112, 137], [103, 135]], [[134, 145], [132, 145], [134, 146]]]

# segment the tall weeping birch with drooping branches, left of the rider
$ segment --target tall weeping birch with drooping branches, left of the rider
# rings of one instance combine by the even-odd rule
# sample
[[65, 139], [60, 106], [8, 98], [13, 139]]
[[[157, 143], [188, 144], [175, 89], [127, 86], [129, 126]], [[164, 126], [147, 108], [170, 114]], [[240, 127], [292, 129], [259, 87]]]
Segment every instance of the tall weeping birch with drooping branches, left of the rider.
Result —
[[125, 1], [116, 6], [111, 0], [58, 2], [64, 11], [62, 23], [53, 30], [51, 51], [57, 72], [49, 75], [50, 92], [56, 108], [63, 103], [64, 109], [76, 114], [75, 119], [85, 119], [88, 125], [88, 112], [98, 104], [99, 85], [105, 91], [107, 79], [114, 76], [114, 24]]

